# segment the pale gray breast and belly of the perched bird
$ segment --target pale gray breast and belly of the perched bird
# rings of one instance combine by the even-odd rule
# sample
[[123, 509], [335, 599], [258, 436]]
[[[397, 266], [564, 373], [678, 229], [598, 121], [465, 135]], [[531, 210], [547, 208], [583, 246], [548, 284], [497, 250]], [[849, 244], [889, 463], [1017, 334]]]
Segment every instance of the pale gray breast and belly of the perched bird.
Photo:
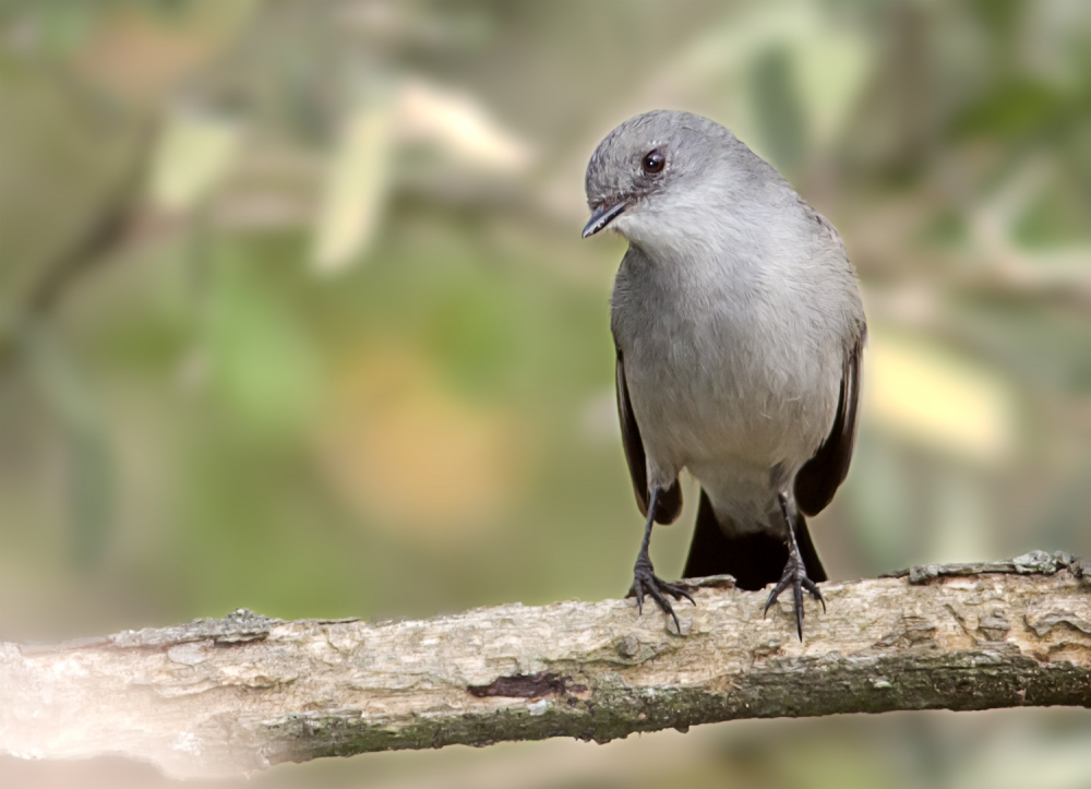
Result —
[[830, 262], [803, 250], [798, 261], [767, 246], [772, 260], [693, 251], [661, 263], [634, 247], [615, 283], [614, 335], [649, 481], [688, 468], [718, 510], [718, 499], [765, 506], [829, 432], [850, 331], [851, 304], [838, 298], [851, 301], [854, 285], [842, 297], [843, 277], [806, 272]]

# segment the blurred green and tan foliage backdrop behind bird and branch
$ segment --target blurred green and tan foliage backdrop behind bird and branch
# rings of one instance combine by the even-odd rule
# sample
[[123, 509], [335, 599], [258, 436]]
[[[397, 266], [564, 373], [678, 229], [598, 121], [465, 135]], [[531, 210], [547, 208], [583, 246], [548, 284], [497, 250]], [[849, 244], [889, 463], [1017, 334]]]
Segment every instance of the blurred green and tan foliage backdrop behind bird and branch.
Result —
[[[583, 171], [658, 107], [732, 128], [863, 282], [856, 456], [814, 526], [831, 576], [1091, 554], [1086, 0], [4, 0], [0, 80], [4, 639], [624, 593], [624, 242], [579, 240]], [[1091, 719], [740, 721], [251, 779], [683, 781], [1091, 787]]]

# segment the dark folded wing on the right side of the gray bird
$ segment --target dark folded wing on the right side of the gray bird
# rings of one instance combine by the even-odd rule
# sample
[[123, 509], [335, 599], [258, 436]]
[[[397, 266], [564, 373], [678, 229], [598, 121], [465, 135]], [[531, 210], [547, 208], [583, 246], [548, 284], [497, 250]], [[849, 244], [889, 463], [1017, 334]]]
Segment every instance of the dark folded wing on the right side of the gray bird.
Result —
[[817, 515], [834, 499], [844, 481], [856, 440], [856, 402], [860, 397], [860, 361], [865, 331], [846, 356], [841, 372], [841, 394], [837, 403], [834, 427], [814, 456], [795, 476], [795, 503], [806, 515]]

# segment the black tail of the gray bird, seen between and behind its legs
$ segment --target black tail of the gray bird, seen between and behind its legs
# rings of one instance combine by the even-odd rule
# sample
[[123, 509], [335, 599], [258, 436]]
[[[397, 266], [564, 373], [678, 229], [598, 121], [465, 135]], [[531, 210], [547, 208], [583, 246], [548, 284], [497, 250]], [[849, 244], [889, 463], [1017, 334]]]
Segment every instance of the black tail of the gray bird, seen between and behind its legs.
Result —
[[[800, 555], [807, 570], [807, 577], [814, 582], [826, 579], [826, 571], [822, 566], [807, 522], [796, 513], [792, 523], [795, 531], [795, 542], [800, 547]], [[712, 502], [708, 494], [700, 491], [700, 506], [697, 507], [697, 527], [693, 531], [690, 543], [690, 558], [685, 563], [683, 576], [698, 578], [704, 575], [728, 573], [735, 577], [735, 586], [740, 589], [760, 589], [768, 584], [780, 581], [788, 563], [788, 546], [768, 531], [747, 531], [727, 535], [720, 528]]]

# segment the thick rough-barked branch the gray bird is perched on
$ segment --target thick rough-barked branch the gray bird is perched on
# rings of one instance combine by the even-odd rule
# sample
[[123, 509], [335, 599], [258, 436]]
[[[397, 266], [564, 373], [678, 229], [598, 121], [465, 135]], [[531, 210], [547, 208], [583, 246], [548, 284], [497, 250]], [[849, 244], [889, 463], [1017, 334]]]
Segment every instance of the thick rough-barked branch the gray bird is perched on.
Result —
[[750, 717], [1091, 706], [1091, 576], [1066, 554], [823, 585], [786, 600], [709, 578], [682, 634], [631, 600], [416, 622], [221, 620], [0, 644], [0, 751], [124, 754], [220, 776], [388, 749]]

